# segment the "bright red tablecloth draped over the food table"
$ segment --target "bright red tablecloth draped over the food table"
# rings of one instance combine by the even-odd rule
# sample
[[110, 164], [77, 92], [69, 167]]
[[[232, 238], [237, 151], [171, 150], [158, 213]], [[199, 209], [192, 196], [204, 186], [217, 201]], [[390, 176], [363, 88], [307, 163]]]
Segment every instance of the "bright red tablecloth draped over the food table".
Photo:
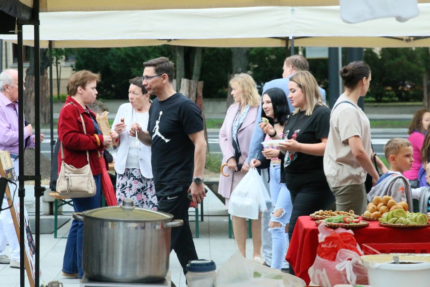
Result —
[[[379, 226], [378, 221], [371, 221], [362, 228], [352, 229], [357, 243], [419, 243], [430, 242], [430, 227], [424, 228], [389, 228]], [[288, 248], [287, 261], [293, 267], [296, 276], [309, 284], [307, 271], [312, 266], [318, 247], [318, 229], [315, 220], [309, 216], [300, 216], [294, 227]]]

